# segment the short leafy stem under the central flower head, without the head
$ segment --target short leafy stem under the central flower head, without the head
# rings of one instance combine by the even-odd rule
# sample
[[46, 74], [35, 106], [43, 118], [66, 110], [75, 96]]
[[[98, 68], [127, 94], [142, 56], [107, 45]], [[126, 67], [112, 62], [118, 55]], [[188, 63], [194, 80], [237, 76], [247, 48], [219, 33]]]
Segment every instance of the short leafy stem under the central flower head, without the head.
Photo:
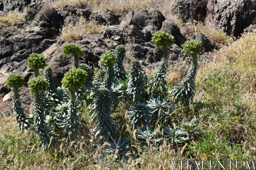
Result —
[[113, 66], [109, 66], [108, 70], [106, 71], [106, 73], [104, 75], [103, 87], [110, 90], [113, 83], [117, 84], [117, 82], [116, 82], [116, 72], [115, 72], [115, 69], [114, 69]]

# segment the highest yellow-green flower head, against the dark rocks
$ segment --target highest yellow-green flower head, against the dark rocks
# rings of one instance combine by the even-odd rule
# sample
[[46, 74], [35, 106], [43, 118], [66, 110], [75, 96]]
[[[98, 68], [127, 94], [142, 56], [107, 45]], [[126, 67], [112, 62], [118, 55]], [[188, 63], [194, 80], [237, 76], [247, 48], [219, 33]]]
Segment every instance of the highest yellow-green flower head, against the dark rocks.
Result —
[[156, 48], [172, 48], [172, 44], [174, 43], [174, 37], [160, 30], [157, 31], [153, 37], [152, 42], [154, 43]]

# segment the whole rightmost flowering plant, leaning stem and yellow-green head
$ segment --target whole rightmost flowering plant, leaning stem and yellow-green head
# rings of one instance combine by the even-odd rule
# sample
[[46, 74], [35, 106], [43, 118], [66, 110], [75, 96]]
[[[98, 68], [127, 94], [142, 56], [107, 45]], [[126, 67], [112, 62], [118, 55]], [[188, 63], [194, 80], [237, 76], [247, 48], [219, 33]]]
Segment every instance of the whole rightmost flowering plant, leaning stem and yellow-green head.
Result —
[[201, 42], [198, 40], [186, 41], [182, 45], [183, 53], [190, 55], [192, 62], [189, 65], [188, 73], [185, 78], [183, 78], [178, 85], [170, 91], [173, 104], [175, 105], [180, 101], [184, 106], [189, 106], [189, 101], [193, 101], [195, 95], [195, 78], [198, 67], [198, 55], [202, 55], [204, 48], [201, 46]]

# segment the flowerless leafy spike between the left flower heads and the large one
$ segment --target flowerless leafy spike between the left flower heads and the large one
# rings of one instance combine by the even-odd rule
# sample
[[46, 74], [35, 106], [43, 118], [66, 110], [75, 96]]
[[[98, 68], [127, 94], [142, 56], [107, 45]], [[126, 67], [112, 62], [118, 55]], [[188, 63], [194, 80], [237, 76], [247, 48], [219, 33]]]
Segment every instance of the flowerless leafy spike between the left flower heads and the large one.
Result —
[[52, 77], [52, 69], [51, 67], [47, 67], [44, 70], [44, 79], [48, 81], [48, 86], [46, 88], [46, 97], [49, 100], [52, 100], [53, 103], [56, 105], [63, 103], [63, 93], [57, 90], [56, 86], [53, 83], [53, 77]]

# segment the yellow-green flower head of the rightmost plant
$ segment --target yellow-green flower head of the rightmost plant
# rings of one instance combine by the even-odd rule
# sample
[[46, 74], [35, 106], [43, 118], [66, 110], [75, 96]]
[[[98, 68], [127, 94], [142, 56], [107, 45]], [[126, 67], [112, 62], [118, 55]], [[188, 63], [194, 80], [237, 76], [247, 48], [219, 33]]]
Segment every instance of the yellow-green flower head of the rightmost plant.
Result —
[[201, 42], [198, 40], [186, 41], [182, 44], [182, 52], [186, 55], [202, 55], [204, 48], [201, 46]]

